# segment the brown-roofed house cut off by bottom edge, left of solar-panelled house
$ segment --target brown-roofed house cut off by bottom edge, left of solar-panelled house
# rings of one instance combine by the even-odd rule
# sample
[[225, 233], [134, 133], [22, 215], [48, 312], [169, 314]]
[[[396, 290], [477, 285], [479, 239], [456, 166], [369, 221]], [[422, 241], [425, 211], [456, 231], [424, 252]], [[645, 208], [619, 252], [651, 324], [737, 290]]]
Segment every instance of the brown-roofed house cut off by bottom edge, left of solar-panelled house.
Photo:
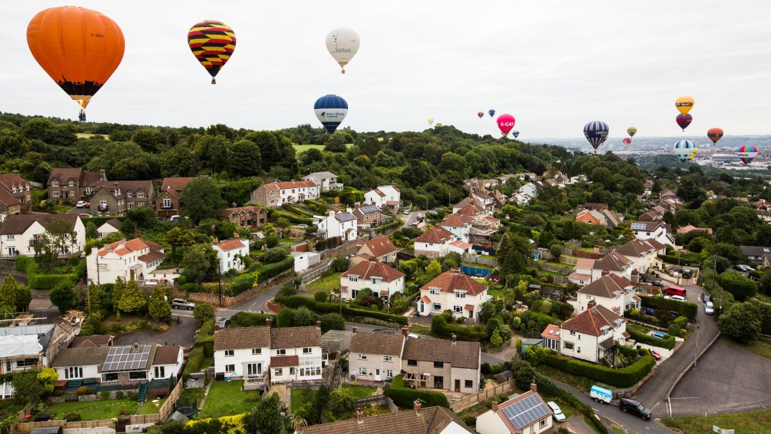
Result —
[[355, 419], [320, 425], [295, 424], [293, 434], [471, 434], [473, 431], [452, 410], [444, 407], [421, 408], [415, 401], [414, 409], [364, 417], [356, 410]]

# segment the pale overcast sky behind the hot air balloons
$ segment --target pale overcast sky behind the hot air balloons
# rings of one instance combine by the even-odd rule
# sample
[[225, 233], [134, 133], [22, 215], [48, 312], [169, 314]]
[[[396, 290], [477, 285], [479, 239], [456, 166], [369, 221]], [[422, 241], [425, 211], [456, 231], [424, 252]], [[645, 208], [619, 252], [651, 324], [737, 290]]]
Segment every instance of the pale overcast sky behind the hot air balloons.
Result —
[[[0, 38], [0, 110], [76, 119], [78, 107], [39, 67], [29, 20], [62, 2], [9, 2]], [[768, 134], [771, 2], [531, 0], [446, 2], [82, 1], [123, 29], [126, 54], [89, 104], [89, 120], [271, 130], [311, 123], [313, 103], [348, 101], [343, 126], [424, 130], [427, 118], [497, 134], [511, 113], [520, 139], [577, 137], [603, 120], [611, 137], [680, 133], [675, 99], [690, 95], [690, 134]], [[187, 46], [204, 19], [234, 29], [217, 85]], [[338, 26], [359, 32], [345, 75], [325, 47]]]

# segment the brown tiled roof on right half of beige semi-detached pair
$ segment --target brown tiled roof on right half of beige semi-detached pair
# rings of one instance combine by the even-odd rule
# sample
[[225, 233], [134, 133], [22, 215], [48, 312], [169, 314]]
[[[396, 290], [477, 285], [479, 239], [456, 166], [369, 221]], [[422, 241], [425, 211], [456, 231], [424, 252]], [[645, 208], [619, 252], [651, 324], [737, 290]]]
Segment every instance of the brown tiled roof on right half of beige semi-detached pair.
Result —
[[479, 342], [447, 341], [434, 338], [407, 338], [402, 358], [424, 362], [449, 363], [453, 368], [478, 369], [481, 347]]

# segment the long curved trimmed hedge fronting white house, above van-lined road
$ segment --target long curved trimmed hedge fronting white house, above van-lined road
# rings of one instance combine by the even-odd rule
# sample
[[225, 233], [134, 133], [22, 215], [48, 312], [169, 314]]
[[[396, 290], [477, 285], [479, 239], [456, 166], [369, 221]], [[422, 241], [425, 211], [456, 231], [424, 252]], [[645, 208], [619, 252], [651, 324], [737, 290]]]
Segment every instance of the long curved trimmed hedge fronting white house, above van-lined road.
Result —
[[625, 368], [614, 369], [607, 366], [594, 365], [594, 363], [581, 362], [573, 358], [561, 357], [559, 355], [549, 354], [544, 358], [544, 363], [554, 368], [561, 369], [564, 372], [570, 372], [574, 375], [592, 378], [616, 387], [631, 387], [637, 384], [656, 364], [655, 359], [650, 355], [638, 358], [637, 362], [628, 365]]

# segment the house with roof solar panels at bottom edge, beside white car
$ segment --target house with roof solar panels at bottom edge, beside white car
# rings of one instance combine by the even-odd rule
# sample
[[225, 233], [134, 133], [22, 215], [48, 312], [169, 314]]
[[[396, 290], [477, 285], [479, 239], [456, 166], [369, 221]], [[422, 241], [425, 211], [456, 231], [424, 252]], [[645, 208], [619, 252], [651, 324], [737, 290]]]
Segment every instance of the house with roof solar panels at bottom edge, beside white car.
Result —
[[530, 390], [514, 395], [476, 418], [479, 434], [549, 434], [552, 432], [552, 416], [543, 398], [538, 395], [535, 383]]

